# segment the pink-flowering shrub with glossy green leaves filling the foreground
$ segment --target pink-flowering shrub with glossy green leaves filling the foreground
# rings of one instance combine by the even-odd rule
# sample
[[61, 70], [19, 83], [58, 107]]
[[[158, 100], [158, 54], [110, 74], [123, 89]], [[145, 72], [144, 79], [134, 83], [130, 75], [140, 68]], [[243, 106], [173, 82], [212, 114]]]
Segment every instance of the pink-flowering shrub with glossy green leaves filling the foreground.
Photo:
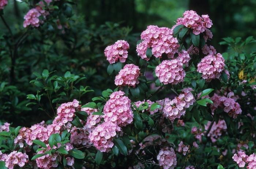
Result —
[[[40, 1], [23, 26], [43, 27], [61, 16], [54, 15], [60, 4]], [[64, 33], [68, 25], [56, 20]], [[40, 90], [27, 95], [26, 106], [37, 105], [51, 119], [0, 125], [0, 168], [254, 169], [255, 54], [220, 54], [206, 44], [213, 37], [208, 15], [185, 11], [176, 23], [148, 26], [138, 56], [128, 55], [125, 40], [106, 44], [106, 71], [118, 87], [91, 102], [82, 97], [93, 90], [78, 86], [83, 75], [35, 73], [30, 83]], [[225, 38], [221, 44], [237, 50], [253, 41]]]

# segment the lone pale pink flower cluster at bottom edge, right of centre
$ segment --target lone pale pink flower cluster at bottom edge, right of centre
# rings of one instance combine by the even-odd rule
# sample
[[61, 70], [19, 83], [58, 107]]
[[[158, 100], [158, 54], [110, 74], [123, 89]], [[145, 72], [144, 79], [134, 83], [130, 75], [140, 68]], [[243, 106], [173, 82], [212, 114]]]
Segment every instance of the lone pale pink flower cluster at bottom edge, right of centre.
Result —
[[163, 169], [174, 169], [177, 165], [177, 157], [173, 148], [166, 147], [161, 149], [157, 155], [157, 160]]

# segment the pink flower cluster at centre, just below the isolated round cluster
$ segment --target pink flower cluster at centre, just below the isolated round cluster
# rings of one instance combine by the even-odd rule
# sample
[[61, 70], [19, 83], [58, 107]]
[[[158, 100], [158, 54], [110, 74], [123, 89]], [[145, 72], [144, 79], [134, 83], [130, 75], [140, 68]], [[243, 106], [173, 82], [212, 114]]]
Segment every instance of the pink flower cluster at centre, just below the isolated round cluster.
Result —
[[140, 76], [140, 69], [134, 64], [125, 64], [124, 68], [120, 70], [115, 79], [117, 86], [135, 87], [139, 84], [138, 77]]

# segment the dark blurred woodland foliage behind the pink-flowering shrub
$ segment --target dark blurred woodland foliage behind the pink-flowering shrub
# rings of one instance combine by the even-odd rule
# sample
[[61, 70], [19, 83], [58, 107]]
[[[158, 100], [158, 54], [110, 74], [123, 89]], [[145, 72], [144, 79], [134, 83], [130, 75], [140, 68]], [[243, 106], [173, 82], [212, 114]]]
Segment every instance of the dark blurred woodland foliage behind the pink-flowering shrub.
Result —
[[[210, 16], [214, 35], [211, 44], [220, 53], [229, 50], [226, 45], [219, 45], [222, 38], [239, 36], [245, 39], [256, 35], [255, 0], [70, 0], [63, 4], [61, 12], [53, 12], [40, 27], [23, 28], [24, 15], [37, 2], [8, 1], [3, 17], [12, 35], [0, 21], [0, 115], [1, 120], [13, 122], [14, 126], [30, 126], [49, 119], [44, 113], [44, 110], [52, 111], [45, 96], [48, 82], [46, 86], [38, 86], [34, 81], [30, 83], [38, 78], [38, 74], [42, 75], [43, 70], [54, 71], [51, 75], [56, 81], [57, 76], [63, 77], [67, 71], [79, 78], [85, 76], [75, 87], [78, 93], [80, 86], [90, 86], [87, 90], [95, 91], [80, 98], [82, 103], [89, 102], [106, 88], [116, 87], [114, 76], [109, 78], [106, 72], [106, 46], [124, 39], [131, 46], [129, 55], [136, 56], [135, 44], [147, 25], [171, 28], [185, 10], [193, 9], [199, 15]], [[58, 23], [62, 28], [57, 28]], [[19, 38], [22, 38], [19, 46], [13, 46]], [[252, 43], [245, 50], [253, 49], [254, 45]], [[15, 50], [16, 57], [11, 59]], [[54, 86], [50, 82], [49, 85]], [[65, 87], [58, 92], [61, 90], [65, 91]], [[29, 103], [27, 94], [42, 94], [41, 102], [45, 108], [24, 106]], [[72, 96], [61, 97], [53, 107], [73, 99]]]

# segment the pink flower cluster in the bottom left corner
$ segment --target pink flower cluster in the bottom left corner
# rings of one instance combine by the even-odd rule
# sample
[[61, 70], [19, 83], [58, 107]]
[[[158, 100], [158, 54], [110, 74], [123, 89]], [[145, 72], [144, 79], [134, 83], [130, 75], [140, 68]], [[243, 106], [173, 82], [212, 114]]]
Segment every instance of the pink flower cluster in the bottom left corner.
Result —
[[29, 158], [29, 156], [26, 153], [17, 152], [17, 151], [11, 152], [8, 155], [6, 154], [1, 155], [1, 151], [0, 151], [0, 156], [2, 156], [1, 158], [3, 158], [2, 160], [5, 161], [5, 166], [8, 169], [13, 169], [15, 166], [23, 167]]

